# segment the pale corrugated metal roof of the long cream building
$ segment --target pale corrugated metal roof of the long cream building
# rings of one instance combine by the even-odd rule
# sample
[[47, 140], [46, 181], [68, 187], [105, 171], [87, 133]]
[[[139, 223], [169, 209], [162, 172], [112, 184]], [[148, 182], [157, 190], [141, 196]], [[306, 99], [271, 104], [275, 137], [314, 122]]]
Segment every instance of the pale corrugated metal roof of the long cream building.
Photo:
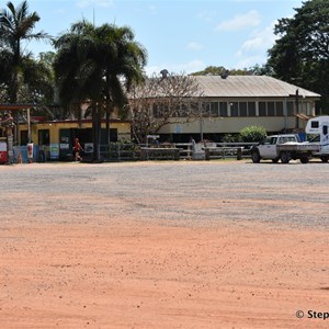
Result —
[[205, 97], [209, 98], [320, 98], [321, 95], [304, 88], [268, 76], [195, 76]]

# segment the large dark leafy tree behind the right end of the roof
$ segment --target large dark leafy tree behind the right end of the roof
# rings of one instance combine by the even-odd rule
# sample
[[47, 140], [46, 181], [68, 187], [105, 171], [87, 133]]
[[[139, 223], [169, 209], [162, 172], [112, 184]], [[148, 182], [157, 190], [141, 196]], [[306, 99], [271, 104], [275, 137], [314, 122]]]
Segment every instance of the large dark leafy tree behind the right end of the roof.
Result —
[[274, 33], [280, 36], [269, 49], [268, 65], [279, 79], [322, 94], [329, 104], [329, 2], [309, 0], [295, 9], [293, 18], [281, 19]]

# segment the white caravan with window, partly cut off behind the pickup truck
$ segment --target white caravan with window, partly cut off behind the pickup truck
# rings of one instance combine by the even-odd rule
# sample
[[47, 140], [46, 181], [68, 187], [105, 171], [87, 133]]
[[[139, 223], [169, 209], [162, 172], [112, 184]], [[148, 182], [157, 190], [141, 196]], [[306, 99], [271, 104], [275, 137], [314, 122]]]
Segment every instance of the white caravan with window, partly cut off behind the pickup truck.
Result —
[[305, 133], [316, 135], [309, 143], [319, 144], [320, 149], [313, 157], [320, 158], [322, 162], [329, 160], [329, 115], [310, 118], [305, 127]]

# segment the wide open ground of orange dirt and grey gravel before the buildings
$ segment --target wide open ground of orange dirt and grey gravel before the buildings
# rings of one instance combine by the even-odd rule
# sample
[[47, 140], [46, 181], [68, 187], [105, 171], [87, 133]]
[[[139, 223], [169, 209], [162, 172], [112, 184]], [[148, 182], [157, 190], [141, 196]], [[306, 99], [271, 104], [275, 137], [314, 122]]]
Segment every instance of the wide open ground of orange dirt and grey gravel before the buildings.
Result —
[[1, 166], [0, 328], [328, 328], [328, 173]]

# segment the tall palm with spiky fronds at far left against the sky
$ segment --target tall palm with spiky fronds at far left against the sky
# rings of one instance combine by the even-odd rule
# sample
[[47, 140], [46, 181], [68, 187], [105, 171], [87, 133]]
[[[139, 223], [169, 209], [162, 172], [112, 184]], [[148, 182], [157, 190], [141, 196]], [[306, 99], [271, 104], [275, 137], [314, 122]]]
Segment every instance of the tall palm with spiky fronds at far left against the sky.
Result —
[[36, 12], [29, 13], [27, 1], [23, 1], [16, 8], [12, 2], [8, 2], [7, 7], [8, 10], [0, 11], [0, 57], [5, 61], [7, 68], [5, 72], [0, 69], [0, 81], [5, 81], [9, 102], [16, 103], [19, 90], [24, 84], [24, 61], [32, 57], [31, 53], [24, 54], [22, 42], [49, 36], [44, 32], [33, 33], [39, 16]]

